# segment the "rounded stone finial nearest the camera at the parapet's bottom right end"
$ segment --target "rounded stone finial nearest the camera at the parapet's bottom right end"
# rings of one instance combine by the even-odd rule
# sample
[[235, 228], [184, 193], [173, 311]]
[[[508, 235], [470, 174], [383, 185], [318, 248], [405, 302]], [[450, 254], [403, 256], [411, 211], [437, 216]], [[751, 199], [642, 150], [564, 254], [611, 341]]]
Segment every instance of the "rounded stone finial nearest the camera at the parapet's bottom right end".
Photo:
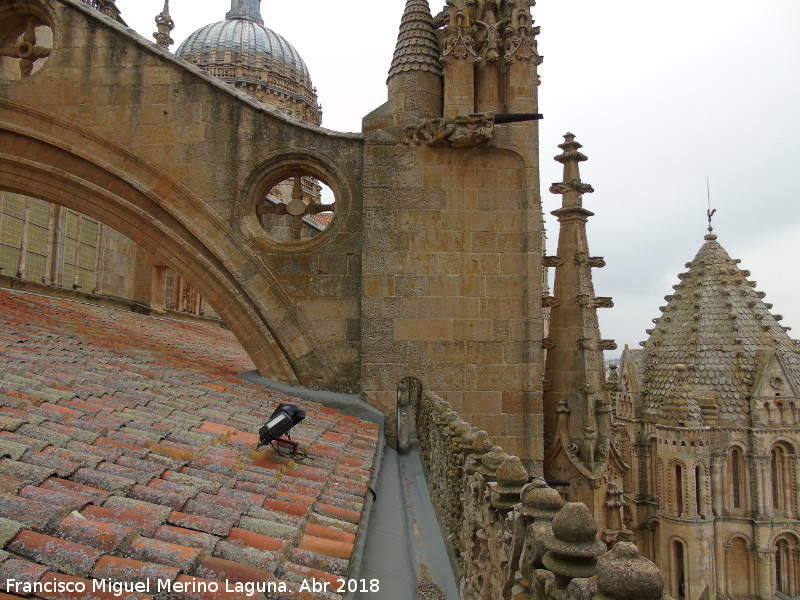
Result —
[[617, 542], [597, 561], [598, 600], [660, 600], [664, 576], [635, 544]]

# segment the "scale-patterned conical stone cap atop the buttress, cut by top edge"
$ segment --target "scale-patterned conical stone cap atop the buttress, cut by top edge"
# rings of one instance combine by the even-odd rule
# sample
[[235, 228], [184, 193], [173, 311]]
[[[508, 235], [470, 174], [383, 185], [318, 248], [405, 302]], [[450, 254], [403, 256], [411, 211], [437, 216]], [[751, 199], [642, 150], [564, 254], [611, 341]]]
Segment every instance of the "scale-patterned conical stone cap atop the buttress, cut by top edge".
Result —
[[389, 78], [405, 71], [441, 75], [440, 55], [428, 0], [407, 0]]

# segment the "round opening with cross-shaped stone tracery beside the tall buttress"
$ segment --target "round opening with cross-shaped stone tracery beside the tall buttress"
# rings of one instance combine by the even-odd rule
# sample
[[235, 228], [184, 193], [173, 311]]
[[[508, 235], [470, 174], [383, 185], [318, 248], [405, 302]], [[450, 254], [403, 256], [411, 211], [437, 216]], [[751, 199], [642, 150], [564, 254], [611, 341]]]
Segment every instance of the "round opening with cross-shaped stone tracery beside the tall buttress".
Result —
[[281, 243], [317, 237], [328, 229], [335, 212], [331, 188], [300, 171], [273, 186], [256, 207], [264, 231]]

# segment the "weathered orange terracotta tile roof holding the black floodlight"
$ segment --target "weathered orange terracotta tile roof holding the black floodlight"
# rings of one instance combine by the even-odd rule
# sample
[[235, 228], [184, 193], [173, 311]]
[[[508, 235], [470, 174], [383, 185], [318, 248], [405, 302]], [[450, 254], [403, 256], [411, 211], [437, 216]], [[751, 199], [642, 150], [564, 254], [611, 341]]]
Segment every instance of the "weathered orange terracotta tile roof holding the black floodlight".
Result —
[[[339, 598], [301, 587], [348, 574], [378, 426], [252, 368], [219, 328], [0, 290], [0, 600], [27, 596], [7, 580], [61, 590], [46, 600]], [[307, 411], [307, 460], [256, 450], [280, 401]]]

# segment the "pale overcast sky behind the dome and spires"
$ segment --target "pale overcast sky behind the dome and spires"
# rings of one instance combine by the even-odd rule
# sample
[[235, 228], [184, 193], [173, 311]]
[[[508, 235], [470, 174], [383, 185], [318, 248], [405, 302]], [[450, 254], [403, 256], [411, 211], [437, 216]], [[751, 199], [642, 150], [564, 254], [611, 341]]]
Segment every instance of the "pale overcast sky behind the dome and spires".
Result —
[[[434, 13], [443, 0], [430, 0]], [[440, 6], [440, 3], [442, 6]], [[152, 39], [163, 0], [117, 0], [123, 18]], [[304, 57], [323, 125], [360, 131], [386, 100], [405, 0], [263, 0], [270, 29]], [[180, 43], [222, 20], [226, 0], [171, 0]], [[773, 313], [800, 335], [800, 1], [539, 0], [539, 73], [544, 209], [560, 196], [552, 160], [567, 131], [589, 161], [596, 192], [584, 206], [605, 338], [638, 347], [663, 296], [703, 243], [706, 177], [714, 232], [742, 259]], [[177, 49], [177, 44], [173, 46]], [[548, 223], [549, 253], [557, 226]], [[609, 353], [609, 357], [619, 352]]]

